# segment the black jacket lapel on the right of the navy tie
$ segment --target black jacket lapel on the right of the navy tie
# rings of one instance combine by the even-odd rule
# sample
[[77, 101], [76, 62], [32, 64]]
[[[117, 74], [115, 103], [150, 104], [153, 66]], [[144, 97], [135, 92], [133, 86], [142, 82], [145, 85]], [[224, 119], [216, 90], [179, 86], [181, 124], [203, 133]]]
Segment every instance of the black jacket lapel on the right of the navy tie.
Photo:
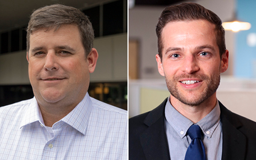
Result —
[[226, 107], [220, 103], [222, 122], [222, 160], [242, 160], [245, 159], [246, 137], [238, 128], [242, 123]]

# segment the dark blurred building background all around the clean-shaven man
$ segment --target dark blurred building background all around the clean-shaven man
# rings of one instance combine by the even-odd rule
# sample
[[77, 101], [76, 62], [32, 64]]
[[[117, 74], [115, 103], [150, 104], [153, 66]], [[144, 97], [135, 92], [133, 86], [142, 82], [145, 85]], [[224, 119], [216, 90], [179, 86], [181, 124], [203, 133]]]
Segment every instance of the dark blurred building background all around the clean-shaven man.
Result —
[[26, 27], [33, 10], [51, 4], [81, 10], [92, 22], [97, 67], [89, 94], [127, 110], [127, 0], [0, 1], [0, 107], [33, 98], [26, 59]]

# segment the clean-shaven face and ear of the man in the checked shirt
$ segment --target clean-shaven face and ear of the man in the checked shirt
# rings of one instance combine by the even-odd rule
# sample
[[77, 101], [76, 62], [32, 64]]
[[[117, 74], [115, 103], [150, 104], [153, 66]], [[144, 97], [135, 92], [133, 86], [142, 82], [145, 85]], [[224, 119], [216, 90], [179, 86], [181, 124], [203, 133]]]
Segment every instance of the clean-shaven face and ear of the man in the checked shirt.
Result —
[[29, 79], [40, 105], [77, 105], [89, 87], [98, 53], [85, 56], [78, 27], [39, 29], [30, 35]]

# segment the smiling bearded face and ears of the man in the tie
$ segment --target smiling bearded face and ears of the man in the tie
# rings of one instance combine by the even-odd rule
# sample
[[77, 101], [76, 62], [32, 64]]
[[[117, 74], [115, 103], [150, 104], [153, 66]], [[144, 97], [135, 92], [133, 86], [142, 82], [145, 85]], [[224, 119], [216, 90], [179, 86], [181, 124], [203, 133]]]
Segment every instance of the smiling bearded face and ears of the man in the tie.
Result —
[[171, 101], [198, 106], [216, 100], [220, 73], [227, 70], [228, 51], [220, 58], [215, 26], [206, 20], [169, 22], [163, 28], [162, 61], [158, 71], [165, 76]]

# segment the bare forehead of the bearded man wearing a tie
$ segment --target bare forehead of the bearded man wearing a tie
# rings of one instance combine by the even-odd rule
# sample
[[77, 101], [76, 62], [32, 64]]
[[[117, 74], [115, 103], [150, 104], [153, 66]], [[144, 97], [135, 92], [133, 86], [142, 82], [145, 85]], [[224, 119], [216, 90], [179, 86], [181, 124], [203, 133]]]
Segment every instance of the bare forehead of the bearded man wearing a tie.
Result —
[[201, 43], [217, 45], [215, 25], [206, 20], [169, 22], [163, 28], [162, 41], [163, 47]]

